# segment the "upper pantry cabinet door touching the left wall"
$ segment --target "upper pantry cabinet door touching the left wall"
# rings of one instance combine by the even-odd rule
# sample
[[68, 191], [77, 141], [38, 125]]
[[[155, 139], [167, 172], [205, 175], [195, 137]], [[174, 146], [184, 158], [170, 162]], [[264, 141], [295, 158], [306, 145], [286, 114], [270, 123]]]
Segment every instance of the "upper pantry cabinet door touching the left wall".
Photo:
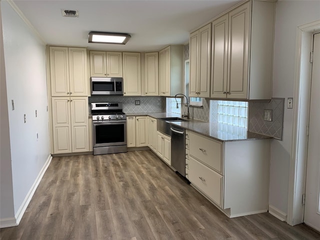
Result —
[[68, 48], [50, 46], [50, 79], [52, 96], [69, 95]]

